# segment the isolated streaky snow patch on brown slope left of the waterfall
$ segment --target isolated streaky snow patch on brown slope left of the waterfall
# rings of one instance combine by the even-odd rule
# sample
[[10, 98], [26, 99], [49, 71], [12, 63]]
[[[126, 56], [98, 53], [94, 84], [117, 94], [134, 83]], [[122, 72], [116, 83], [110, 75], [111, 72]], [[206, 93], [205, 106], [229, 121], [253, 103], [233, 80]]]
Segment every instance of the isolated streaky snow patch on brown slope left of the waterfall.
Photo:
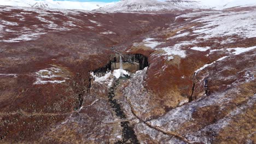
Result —
[[[36, 82], [34, 82], [34, 85], [45, 85], [47, 83], [62, 83], [66, 82], [66, 80], [52, 80], [54, 78], [62, 78], [60, 74], [62, 73], [61, 69], [58, 68], [48, 68], [39, 70], [36, 72]], [[62, 78], [63, 79], [63, 78]]]

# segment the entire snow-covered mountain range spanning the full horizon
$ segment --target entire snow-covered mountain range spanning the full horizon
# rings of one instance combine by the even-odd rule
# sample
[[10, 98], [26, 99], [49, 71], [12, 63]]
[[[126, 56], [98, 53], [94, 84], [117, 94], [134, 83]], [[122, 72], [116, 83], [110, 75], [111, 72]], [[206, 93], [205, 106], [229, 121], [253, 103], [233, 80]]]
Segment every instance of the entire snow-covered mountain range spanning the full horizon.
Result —
[[83, 9], [96, 11], [158, 11], [181, 9], [226, 9], [255, 6], [255, 0], [121, 0], [120, 2], [75, 2], [53, 0], [1, 0], [0, 5], [32, 8]]

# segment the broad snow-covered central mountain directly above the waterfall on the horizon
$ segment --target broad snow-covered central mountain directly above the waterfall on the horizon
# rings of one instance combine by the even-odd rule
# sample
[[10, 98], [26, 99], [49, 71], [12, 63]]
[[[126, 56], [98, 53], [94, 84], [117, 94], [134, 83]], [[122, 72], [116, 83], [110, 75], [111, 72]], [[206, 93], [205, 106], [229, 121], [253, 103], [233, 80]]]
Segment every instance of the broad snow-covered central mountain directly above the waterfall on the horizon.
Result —
[[199, 8], [196, 1], [157, 1], [157, 0], [123, 0], [114, 4], [106, 5], [96, 11], [158, 11]]

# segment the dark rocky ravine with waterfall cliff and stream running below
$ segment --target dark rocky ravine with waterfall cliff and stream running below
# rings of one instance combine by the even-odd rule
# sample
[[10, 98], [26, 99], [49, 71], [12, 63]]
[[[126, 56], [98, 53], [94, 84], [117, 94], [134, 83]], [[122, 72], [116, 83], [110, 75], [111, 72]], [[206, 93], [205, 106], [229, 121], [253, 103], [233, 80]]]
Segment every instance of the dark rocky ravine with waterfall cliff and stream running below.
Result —
[[[122, 66], [120, 66], [120, 62]], [[115, 55], [109, 62], [107, 62], [106, 65], [91, 72], [93, 72], [92, 74], [96, 77], [104, 77], [107, 73], [116, 69], [124, 69], [129, 71], [129, 73], [135, 73], [136, 71], [142, 70], [148, 66], [148, 57], [144, 55], [138, 53]], [[122, 110], [123, 107], [121, 107], [117, 99], [115, 99], [115, 91], [117, 87], [127, 79], [129, 79], [129, 77], [120, 76], [118, 79], [112, 78], [112, 84], [108, 85], [108, 103], [109, 106], [112, 107], [115, 116], [119, 119], [111, 123], [120, 123], [122, 131], [121, 140], [116, 140], [115, 143], [139, 143], [135, 131], [130, 125], [130, 119], [127, 119], [125, 115], [126, 113]]]

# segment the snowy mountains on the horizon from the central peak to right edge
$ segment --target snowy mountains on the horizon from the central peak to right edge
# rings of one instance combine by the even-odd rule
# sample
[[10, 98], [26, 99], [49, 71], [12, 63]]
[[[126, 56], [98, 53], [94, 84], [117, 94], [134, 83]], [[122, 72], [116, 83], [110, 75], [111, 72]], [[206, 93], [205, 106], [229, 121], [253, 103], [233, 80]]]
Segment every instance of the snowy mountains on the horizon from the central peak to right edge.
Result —
[[96, 11], [159, 11], [181, 9], [226, 9], [255, 6], [255, 0], [123, 0]]

